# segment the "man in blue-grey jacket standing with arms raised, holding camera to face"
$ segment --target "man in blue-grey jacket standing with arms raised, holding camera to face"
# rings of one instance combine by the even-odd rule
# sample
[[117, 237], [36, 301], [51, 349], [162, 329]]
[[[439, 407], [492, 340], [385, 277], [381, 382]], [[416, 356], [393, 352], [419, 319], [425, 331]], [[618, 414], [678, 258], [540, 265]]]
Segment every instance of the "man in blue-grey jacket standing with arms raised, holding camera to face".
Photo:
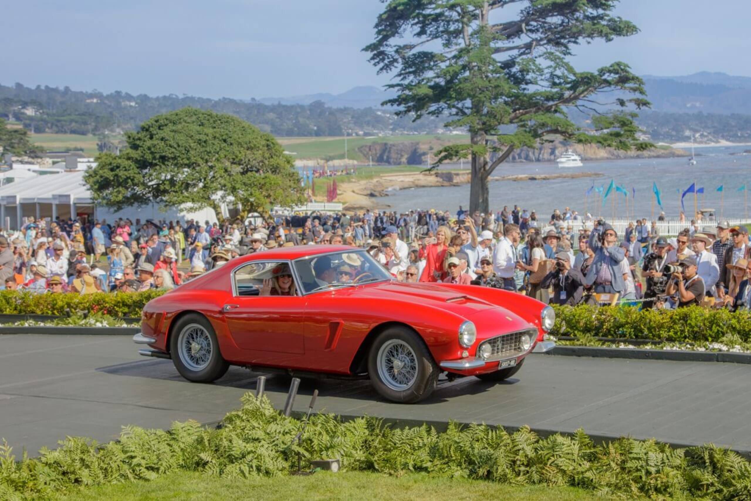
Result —
[[589, 246], [595, 257], [587, 270], [584, 284], [587, 287], [592, 285], [593, 292], [597, 294], [623, 294], [626, 290], [623, 273], [620, 272], [620, 261], [626, 259], [626, 254], [617, 241], [618, 234], [614, 228], [599, 219], [590, 233]]

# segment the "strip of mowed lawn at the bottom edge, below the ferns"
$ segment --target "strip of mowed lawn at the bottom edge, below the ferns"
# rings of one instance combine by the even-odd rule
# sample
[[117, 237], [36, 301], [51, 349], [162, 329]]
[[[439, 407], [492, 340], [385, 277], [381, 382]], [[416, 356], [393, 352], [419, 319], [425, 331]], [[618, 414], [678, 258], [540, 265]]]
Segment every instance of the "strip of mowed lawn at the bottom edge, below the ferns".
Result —
[[309, 476], [219, 478], [195, 472], [84, 488], [62, 499], [519, 499], [578, 501], [596, 498], [574, 487], [512, 487], [490, 481], [434, 477], [392, 477], [370, 472], [317, 472]]

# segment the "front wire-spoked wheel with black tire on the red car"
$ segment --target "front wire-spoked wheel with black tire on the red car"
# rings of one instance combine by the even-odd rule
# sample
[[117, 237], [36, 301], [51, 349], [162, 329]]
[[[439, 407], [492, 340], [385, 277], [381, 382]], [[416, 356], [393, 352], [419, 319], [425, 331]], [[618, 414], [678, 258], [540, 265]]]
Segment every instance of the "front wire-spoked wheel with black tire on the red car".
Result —
[[[406, 374], [410, 367], [414, 367], [414, 376], [403, 388], [394, 388], [395, 381], [388, 379], [389, 375], [396, 376], [396, 373], [403, 367], [397, 369], [396, 373], [382, 367], [382, 370], [387, 372], [386, 379], [384, 379], [379, 373], [379, 353], [384, 349], [383, 355], [386, 355], [389, 347], [403, 349], [404, 346], [409, 346], [411, 352], [405, 349], [405, 358], [408, 362], [403, 366], [406, 369], [402, 375]], [[391, 360], [393, 361], [394, 358]], [[433, 355], [430, 355], [430, 351], [418, 334], [406, 327], [391, 327], [373, 340], [368, 353], [368, 375], [375, 391], [388, 400], [397, 403], [415, 403], [424, 400], [436, 389], [439, 369], [433, 361]]]

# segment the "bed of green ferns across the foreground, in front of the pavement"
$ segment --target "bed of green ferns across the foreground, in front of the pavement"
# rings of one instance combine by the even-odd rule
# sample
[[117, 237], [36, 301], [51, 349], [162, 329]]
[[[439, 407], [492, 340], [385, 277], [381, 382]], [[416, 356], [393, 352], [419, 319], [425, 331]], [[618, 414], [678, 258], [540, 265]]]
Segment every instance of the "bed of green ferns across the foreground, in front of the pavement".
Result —
[[268, 400], [243, 397], [219, 430], [196, 421], [170, 430], [125, 427], [118, 442], [97, 445], [68, 437], [41, 457], [16, 461], [0, 447], [0, 499], [52, 497], [76, 487], [152, 480], [176, 470], [225, 478], [286, 475], [309, 460], [339, 458], [347, 470], [394, 475], [426, 472], [504, 484], [570, 485], [604, 495], [751, 499], [751, 463], [713, 445], [673, 449], [652, 440], [596, 445], [579, 430], [541, 439], [529, 428], [508, 433], [484, 425], [451, 424], [394, 430], [375, 418], [342, 422], [314, 415], [298, 447], [301, 421], [285, 418]]

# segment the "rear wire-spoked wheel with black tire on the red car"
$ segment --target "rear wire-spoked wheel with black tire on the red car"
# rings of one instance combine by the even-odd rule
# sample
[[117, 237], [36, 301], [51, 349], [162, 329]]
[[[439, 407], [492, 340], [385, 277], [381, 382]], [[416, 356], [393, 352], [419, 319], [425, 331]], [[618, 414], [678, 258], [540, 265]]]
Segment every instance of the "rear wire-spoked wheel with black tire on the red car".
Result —
[[[181, 336], [183, 333], [185, 334], [185, 336], [182, 337], [182, 342], [184, 343], [186, 338], [189, 337], [191, 331], [200, 332], [201, 327], [207, 337], [205, 337], [204, 333], [200, 333], [198, 334], [200, 337], [199, 340], [207, 344], [210, 343], [210, 355], [207, 355], [208, 360], [206, 363], [196, 364], [192, 367], [189, 361], [189, 355], [182, 352], [182, 355], [184, 356], [181, 356], [179, 343], [181, 342]], [[206, 345], [202, 345], [201, 349], [206, 349]], [[175, 368], [177, 369], [177, 372], [180, 373], [180, 376], [192, 382], [205, 383], [216, 381], [224, 376], [230, 367], [227, 361], [222, 357], [222, 352], [219, 351], [219, 343], [216, 340], [216, 333], [214, 332], [214, 328], [211, 326], [210, 321], [208, 321], [203, 315], [198, 315], [198, 313], [185, 315], [176, 322], [170, 335], [170, 354], [172, 355], [173, 364], [175, 364]]]

